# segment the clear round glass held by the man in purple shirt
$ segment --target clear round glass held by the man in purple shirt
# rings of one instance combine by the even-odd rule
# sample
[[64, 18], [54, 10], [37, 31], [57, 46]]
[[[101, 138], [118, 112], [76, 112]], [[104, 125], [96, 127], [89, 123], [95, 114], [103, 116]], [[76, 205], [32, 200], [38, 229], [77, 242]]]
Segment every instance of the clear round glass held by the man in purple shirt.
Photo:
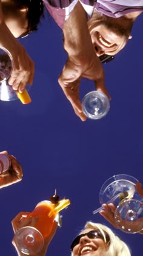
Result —
[[82, 110], [90, 119], [100, 119], [107, 115], [110, 102], [101, 91], [90, 91], [82, 99]]

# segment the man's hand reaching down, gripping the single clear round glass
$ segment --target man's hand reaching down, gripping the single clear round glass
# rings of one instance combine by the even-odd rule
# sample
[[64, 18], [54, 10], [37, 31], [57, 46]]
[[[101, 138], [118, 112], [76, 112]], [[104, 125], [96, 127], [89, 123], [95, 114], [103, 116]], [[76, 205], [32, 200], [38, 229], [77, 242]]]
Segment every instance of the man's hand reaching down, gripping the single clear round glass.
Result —
[[68, 56], [68, 60], [58, 80], [76, 115], [82, 121], [85, 121], [87, 117], [82, 112], [82, 105], [79, 99], [79, 84], [82, 77], [93, 80], [96, 90], [106, 94], [108, 99], [110, 99], [105, 88], [104, 70], [94, 50], [93, 54], [90, 57], [87, 56], [86, 60], [82, 59], [82, 56]]

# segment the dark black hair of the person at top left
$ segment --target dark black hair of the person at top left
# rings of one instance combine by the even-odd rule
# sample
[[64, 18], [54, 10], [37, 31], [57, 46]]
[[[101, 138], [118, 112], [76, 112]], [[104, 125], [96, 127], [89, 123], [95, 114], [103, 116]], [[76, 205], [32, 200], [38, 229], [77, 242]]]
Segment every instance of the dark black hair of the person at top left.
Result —
[[[27, 8], [27, 34], [30, 32], [38, 30], [38, 24], [41, 17], [44, 17], [44, 4], [42, 0], [14, 0], [15, 4], [19, 9]], [[20, 37], [24, 37], [24, 34]]]

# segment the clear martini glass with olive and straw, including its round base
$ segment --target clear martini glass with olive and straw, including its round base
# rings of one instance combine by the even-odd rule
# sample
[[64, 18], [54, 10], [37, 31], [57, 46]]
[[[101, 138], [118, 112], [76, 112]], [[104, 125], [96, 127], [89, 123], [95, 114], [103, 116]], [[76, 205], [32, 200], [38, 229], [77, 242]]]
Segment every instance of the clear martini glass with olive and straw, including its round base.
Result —
[[[136, 191], [135, 177], [119, 174], [106, 180], [99, 192], [101, 204], [116, 205], [116, 226], [126, 233], [136, 233], [143, 229], [143, 199]], [[98, 208], [93, 214], [103, 210]]]

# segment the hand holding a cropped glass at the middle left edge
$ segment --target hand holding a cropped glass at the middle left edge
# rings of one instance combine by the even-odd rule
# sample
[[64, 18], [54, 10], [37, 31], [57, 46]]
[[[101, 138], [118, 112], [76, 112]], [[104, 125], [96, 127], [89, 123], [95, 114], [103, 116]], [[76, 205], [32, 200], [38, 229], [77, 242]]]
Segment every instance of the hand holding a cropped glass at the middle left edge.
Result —
[[[8, 155], [7, 151], [2, 151], [0, 154]], [[10, 158], [11, 166], [8, 171], [1, 174], [0, 188], [8, 187], [22, 180], [23, 172], [20, 163], [18, 163], [13, 155], [8, 155], [8, 158]]]

